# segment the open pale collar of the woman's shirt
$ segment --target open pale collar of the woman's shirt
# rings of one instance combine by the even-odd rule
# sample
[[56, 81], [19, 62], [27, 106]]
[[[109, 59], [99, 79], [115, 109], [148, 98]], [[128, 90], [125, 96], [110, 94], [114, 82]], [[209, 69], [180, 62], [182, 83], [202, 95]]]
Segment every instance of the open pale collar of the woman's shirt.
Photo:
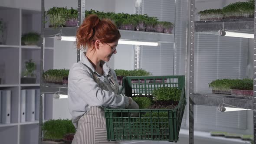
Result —
[[[97, 75], [100, 75], [100, 74], [98, 74], [98, 72], [95, 71], [91, 62], [89, 62], [88, 58], [85, 55], [85, 52], [82, 53], [80, 62], [82, 62], [83, 64], [87, 65], [90, 69], [92, 69], [92, 72], [95, 72]], [[103, 75], [104, 76], [108, 75], [108, 72], [110, 71], [110, 68], [108, 67], [107, 63], [104, 62], [104, 61], [101, 61], [100, 63], [102, 65], [102, 68], [103, 68], [103, 71], [104, 71]]]

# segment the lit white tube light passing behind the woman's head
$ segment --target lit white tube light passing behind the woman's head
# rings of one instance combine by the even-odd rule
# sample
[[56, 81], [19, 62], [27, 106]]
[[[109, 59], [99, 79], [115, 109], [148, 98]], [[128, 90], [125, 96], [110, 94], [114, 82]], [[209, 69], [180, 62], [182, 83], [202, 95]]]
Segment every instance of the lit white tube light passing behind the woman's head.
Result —
[[[64, 40], [64, 41], [76, 41], [76, 37], [74, 36], [55, 36], [56, 40]], [[141, 45], [141, 46], [158, 46], [158, 43], [154, 42], [142, 42], [142, 41], [132, 41], [132, 40], [123, 40], [119, 39], [118, 44], [125, 44], [125, 45]]]

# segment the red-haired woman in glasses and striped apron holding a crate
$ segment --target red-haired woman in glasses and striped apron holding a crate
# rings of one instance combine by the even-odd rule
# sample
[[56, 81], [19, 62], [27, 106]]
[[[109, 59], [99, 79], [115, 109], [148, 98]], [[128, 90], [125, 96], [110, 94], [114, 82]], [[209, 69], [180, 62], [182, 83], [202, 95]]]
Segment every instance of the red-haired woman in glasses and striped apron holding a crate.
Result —
[[87, 49], [69, 70], [69, 112], [77, 128], [72, 144], [117, 144], [107, 141], [104, 108], [138, 108], [130, 97], [118, 95], [115, 71], [108, 62], [121, 35], [111, 20], [87, 16], [76, 34], [78, 49]]

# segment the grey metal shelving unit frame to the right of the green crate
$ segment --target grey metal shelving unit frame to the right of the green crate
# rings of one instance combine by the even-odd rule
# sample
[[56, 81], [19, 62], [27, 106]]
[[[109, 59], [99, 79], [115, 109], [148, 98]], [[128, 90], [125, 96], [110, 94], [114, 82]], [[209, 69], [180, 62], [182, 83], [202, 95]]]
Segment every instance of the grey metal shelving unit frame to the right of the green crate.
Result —
[[[194, 21], [195, 0], [190, 1], [189, 26], [189, 144], [194, 144], [194, 105], [219, 106], [222, 101], [228, 105], [253, 110], [253, 135], [256, 144], [256, 11], [254, 18], [241, 20]], [[256, 0], [255, 0], [256, 9]], [[223, 25], [224, 24], [224, 25]], [[253, 96], [233, 96], [194, 93], [194, 34], [217, 35], [218, 30], [227, 29], [239, 33], [254, 33]]]

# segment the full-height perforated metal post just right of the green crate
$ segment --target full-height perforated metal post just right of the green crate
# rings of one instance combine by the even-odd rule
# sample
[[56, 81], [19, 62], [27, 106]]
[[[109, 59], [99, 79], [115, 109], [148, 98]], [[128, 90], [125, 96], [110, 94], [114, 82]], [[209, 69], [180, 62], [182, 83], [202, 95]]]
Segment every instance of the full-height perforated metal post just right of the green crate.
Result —
[[190, 33], [189, 33], [189, 144], [194, 144], [194, 32], [195, 32], [195, 0], [190, 0]]

